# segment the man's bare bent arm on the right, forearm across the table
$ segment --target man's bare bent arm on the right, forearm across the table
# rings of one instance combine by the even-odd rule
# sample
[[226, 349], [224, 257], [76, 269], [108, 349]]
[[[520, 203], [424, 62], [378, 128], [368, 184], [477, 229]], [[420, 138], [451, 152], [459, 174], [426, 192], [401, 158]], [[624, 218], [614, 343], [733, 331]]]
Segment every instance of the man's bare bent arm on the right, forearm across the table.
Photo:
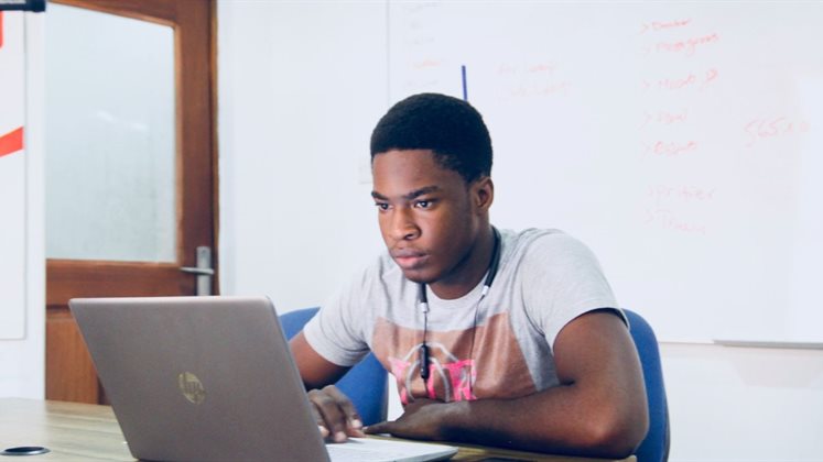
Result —
[[465, 441], [553, 453], [627, 457], [646, 436], [648, 408], [637, 350], [622, 321], [595, 311], [554, 343], [560, 386], [517, 399], [416, 400], [368, 433]]

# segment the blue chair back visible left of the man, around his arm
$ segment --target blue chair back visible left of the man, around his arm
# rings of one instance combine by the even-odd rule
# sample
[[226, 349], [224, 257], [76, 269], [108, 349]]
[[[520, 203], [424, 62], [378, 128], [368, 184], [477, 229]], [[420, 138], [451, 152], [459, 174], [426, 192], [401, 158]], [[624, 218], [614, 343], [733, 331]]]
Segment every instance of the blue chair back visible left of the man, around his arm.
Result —
[[[303, 330], [303, 326], [317, 312], [317, 308], [303, 308], [280, 316], [283, 333], [288, 339]], [[364, 425], [386, 420], [388, 411], [387, 373], [373, 353], [351, 367], [335, 384], [355, 404]]]

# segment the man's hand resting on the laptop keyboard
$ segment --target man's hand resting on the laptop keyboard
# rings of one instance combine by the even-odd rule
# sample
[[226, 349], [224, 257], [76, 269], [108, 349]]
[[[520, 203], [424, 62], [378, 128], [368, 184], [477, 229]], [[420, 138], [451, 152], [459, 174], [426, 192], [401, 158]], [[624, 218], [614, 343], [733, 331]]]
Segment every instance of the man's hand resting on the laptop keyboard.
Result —
[[308, 392], [312, 413], [323, 438], [345, 442], [348, 437], [364, 437], [362, 419], [355, 405], [334, 385]]

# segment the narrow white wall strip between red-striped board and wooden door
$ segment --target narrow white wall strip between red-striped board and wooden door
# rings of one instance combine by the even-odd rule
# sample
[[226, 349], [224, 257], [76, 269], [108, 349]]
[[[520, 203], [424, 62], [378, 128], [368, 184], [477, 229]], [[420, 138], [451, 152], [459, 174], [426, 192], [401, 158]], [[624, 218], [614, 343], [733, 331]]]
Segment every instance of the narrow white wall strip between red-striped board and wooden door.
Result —
[[[2, 309], [25, 310], [24, 331], [19, 339], [0, 340], [0, 396], [42, 398], [45, 395], [45, 260], [43, 224], [43, 16], [25, 14], [25, 187], [23, 196], [3, 197], [20, 201], [25, 209], [24, 222], [7, 222], [2, 227], [21, 227], [25, 232], [23, 307], [8, 306], [0, 293]], [[3, 106], [0, 103], [0, 111]], [[0, 255], [2, 258], [2, 255]]]

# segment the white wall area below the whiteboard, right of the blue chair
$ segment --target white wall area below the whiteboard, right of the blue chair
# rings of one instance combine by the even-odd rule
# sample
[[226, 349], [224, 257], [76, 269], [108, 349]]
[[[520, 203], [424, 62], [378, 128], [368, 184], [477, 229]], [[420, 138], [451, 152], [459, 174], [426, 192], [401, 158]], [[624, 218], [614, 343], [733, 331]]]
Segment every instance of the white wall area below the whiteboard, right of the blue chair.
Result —
[[823, 460], [823, 352], [663, 343], [672, 461]]

